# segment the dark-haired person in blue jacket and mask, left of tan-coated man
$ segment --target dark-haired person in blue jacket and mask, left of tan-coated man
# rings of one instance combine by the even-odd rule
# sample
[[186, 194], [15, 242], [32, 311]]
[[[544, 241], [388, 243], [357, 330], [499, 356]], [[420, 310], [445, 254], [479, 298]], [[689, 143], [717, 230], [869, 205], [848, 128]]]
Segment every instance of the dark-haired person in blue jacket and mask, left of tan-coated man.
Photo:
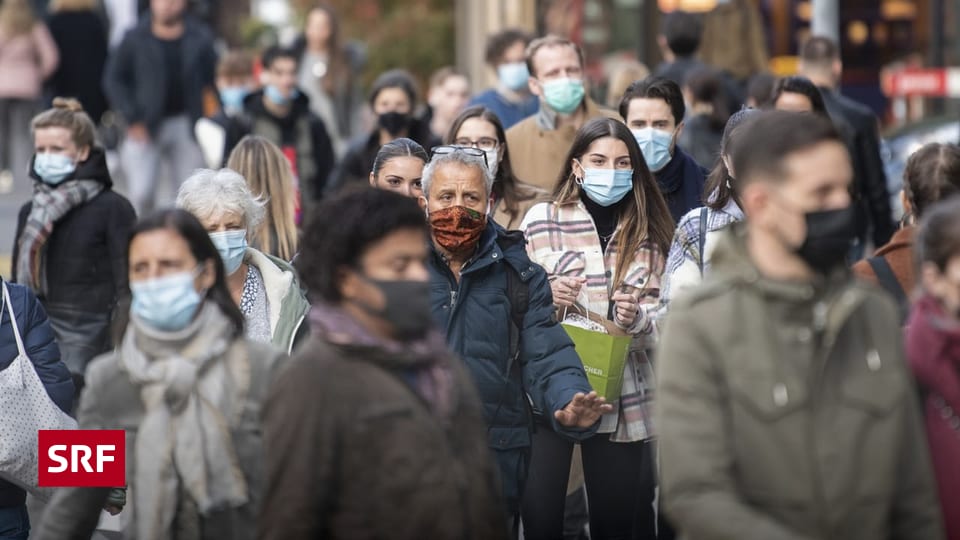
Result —
[[536, 114], [540, 100], [530, 93], [526, 49], [533, 38], [524, 30], [508, 28], [487, 38], [484, 60], [497, 74], [497, 84], [473, 96], [468, 106], [482, 105], [493, 111], [510, 129]]

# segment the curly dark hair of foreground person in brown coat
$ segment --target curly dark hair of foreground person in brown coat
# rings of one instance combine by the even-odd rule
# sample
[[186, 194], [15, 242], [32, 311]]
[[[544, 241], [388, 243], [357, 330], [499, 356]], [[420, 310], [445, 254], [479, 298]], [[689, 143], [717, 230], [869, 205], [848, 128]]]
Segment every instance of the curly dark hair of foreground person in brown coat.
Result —
[[428, 226], [416, 199], [369, 186], [347, 188], [324, 198], [303, 229], [294, 261], [311, 301], [339, 303], [339, 271], [355, 268], [373, 244], [401, 229]]

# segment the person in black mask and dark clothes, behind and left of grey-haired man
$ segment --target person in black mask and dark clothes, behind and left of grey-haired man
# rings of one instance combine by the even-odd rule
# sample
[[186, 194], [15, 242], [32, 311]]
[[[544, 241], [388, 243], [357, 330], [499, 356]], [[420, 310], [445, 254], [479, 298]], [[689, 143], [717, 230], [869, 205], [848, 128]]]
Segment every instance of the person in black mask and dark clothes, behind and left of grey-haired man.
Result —
[[417, 106], [417, 89], [408, 72], [392, 69], [381, 73], [373, 81], [369, 102], [377, 117], [377, 125], [372, 132], [350, 142], [330, 182], [331, 191], [354, 183], [366, 183], [380, 147], [392, 140], [406, 137], [427, 148], [440, 144], [440, 139], [430, 133], [430, 126], [413, 115]]

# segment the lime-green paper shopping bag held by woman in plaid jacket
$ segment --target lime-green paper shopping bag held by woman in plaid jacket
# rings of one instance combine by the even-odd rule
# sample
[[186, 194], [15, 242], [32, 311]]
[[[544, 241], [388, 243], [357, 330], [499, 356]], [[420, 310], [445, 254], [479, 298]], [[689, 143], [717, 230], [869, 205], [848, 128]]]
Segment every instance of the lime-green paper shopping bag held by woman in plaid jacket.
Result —
[[633, 337], [610, 321], [589, 312], [587, 317], [579, 314], [567, 317], [564, 314], [561, 326], [573, 340], [590, 386], [610, 403], [620, 399], [623, 368]]

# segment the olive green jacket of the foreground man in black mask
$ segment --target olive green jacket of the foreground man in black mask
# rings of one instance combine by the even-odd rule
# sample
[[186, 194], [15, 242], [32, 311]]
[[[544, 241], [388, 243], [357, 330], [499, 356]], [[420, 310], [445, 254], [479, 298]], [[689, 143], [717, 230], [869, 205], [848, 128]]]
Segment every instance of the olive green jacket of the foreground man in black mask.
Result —
[[743, 224], [671, 304], [655, 419], [687, 540], [942, 539], [896, 308], [845, 271], [764, 278]]

